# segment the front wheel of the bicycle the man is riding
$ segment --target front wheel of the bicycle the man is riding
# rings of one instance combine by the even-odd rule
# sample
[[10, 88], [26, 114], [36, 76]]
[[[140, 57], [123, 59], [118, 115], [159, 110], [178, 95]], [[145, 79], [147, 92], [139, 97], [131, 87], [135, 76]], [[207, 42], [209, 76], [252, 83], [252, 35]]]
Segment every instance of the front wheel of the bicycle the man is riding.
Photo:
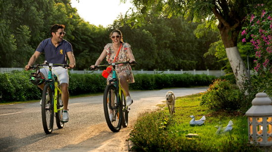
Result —
[[[47, 96], [47, 99], [46, 99]], [[54, 110], [53, 110], [53, 96], [51, 86], [46, 84], [42, 96], [42, 121], [46, 134], [50, 134], [53, 130]]]

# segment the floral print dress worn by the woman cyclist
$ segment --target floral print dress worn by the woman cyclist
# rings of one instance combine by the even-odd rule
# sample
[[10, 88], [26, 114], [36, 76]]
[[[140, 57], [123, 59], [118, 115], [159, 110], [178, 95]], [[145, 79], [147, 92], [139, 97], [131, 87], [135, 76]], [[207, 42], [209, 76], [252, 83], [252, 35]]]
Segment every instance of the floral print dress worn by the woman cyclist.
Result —
[[[106, 60], [109, 63], [112, 63], [114, 61], [115, 56], [116, 56], [112, 43], [108, 43], [104, 47], [104, 49], [107, 51]], [[119, 52], [118, 57], [116, 57], [115, 62], [129, 61], [130, 58], [129, 58], [129, 55], [127, 52], [128, 49], [131, 49], [131, 45], [129, 43], [122, 43], [122, 48]], [[130, 64], [118, 64], [115, 66], [115, 68], [116, 68], [116, 72], [118, 73], [118, 75], [120, 75], [121, 73], [124, 72], [129, 76], [128, 82], [135, 83]], [[112, 79], [112, 72], [109, 74], [109, 76], [107, 78], [107, 82], [109, 82], [109, 80], [111, 80], [111, 79]]]

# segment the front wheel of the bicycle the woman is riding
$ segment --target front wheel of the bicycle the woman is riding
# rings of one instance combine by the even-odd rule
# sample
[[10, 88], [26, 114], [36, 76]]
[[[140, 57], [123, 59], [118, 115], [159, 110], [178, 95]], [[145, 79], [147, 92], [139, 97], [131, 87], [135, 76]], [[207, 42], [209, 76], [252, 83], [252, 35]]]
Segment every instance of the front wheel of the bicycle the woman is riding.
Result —
[[[118, 132], [122, 127], [122, 103], [118, 101], [118, 93], [114, 84], [109, 84], [106, 86], [103, 95], [103, 107], [105, 119], [108, 127], [112, 132]], [[112, 99], [112, 100], [111, 100]], [[113, 102], [112, 102], [113, 101]], [[112, 106], [111, 106], [112, 105]], [[113, 113], [113, 120], [110, 120], [109, 114]]]

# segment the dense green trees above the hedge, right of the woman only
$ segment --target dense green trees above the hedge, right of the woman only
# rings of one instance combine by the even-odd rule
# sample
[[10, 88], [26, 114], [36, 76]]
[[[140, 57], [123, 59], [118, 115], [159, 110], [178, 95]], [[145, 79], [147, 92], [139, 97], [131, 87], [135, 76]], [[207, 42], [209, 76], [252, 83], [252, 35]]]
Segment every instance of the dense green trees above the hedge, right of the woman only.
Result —
[[193, 32], [199, 24], [188, 23], [182, 17], [158, 17], [152, 13], [145, 18], [148, 24], [141, 27], [131, 29], [124, 24], [129, 19], [123, 16], [110, 27], [111, 30], [120, 29], [123, 39], [132, 45], [138, 61], [136, 69], [213, 70], [223, 66], [215, 62], [213, 56], [203, 58], [209, 45], [218, 39], [218, 31], [207, 30], [207, 34], [197, 38]]

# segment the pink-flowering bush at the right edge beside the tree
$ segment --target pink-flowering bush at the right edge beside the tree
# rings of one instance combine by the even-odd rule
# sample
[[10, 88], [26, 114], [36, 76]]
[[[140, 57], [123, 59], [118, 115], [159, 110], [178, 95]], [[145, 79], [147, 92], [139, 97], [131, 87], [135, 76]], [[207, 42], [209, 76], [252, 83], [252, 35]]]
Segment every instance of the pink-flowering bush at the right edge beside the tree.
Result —
[[[258, 6], [263, 6], [259, 4]], [[241, 35], [242, 42], [251, 39], [254, 46], [256, 67], [258, 73], [272, 73], [272, 12], [263, 10], [260, 15], [251, 14], [247, 17], [250, 24], [243, 28]]]

